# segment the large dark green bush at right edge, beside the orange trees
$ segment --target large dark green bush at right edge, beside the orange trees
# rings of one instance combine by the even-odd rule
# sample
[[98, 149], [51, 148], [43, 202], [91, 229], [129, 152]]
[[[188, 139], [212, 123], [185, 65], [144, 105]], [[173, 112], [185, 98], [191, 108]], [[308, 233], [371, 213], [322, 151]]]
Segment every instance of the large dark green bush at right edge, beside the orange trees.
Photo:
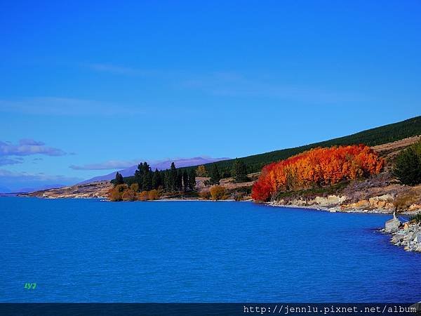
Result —
[[421, 183], [421, 141], [398, 154], [393, 175], [405, 185]]

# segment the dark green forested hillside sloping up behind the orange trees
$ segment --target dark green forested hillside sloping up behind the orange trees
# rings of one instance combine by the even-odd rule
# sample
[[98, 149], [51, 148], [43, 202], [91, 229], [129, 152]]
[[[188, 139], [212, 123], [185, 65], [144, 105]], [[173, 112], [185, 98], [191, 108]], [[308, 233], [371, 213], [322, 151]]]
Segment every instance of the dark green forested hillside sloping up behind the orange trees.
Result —
[[[275, 150], [273, 152], [265, 152], [263, 154], [253, 154], [252, 156], [242, 157], [241, 159], [247, 166], [249, 173], [258, 172], [262, 170], [262, 166], [277, 162], [281, 159], [286, 159], [299, 154], [314, 147], [330, 147], [333, 145], [354, 145], [366, 144], [369, 146], [381, 145], [391, 143], [395, 140], [401, 140], [410, 136], [421, 135], [421, 116], [399, 121], [398, 123], [389, 124], [385, 126], [375, 127], [349, 136], [325, 140], [319, 143], [313, 143], [300, 147], [287, 148], [283, 150]], [[222, 162], [213, 162], [205, 164], [206, 170], [210, 170], [211, 164], [218, 165], [223, 177], [230, 176], [231, 167], [234, 159], [224, 160]], [[181, 169], [191, 169], [193, 167], [185, 167]]]

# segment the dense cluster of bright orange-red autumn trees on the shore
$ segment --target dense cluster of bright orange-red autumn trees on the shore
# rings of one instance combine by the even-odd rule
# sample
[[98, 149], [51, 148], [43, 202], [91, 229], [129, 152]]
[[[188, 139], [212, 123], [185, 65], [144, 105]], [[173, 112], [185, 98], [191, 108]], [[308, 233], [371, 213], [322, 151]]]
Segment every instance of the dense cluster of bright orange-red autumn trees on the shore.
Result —
[[314, 148], [263, 167], [251, 196], [267, 201], [275, 192], [333, 185], [379, 173], [384, 159], [366, 145]]

